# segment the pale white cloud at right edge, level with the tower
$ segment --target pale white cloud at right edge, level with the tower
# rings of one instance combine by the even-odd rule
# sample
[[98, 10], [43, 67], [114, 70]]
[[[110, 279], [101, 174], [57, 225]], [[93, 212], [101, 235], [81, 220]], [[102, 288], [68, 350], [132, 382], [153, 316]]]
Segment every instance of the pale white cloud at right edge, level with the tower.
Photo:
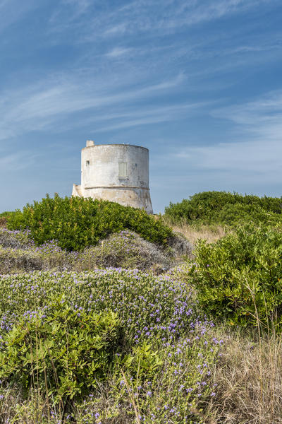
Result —
[[212, 116], [233, 122], [229, 141], [187, 146], [176, 157], [197, 170], [226, 172], [234, 181], [264, 175], [264, 182], [282, 177], [282, 91], [253, 102], [216, 109]]

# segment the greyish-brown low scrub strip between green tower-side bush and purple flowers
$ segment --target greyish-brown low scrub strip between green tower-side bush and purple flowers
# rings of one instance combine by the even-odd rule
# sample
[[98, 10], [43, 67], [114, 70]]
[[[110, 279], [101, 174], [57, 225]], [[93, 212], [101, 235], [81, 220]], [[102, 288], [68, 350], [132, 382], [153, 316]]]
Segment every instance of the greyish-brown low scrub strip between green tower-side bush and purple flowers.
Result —
[[61, 249], [55, 240], [35, 246], [30, 232], [0, 228], [0, 274], [50, 270], [90, 271], [97, 267], [147, 269], [161, 273], [191, 254], [192, 246], [184, 237], [173, 235], [163, 248], [144, 240], [133, 231], [123, 230], [99, 240], [96, 246], [80, 252]]

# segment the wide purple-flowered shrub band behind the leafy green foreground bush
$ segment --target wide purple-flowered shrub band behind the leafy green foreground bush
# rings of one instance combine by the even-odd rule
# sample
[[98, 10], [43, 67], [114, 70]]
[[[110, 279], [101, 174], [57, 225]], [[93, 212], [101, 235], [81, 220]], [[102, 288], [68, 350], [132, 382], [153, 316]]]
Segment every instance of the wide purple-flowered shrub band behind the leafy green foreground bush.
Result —
[[167, 338], [168, 327], [176, 320], [179, 324], [171, 334], [178, 336], [192, 319], [192, 312], [186, 315], [185, 311], [195, 307], [188, 306], [192, 294], [187, 284], [173, 284], [171, 280], [170, 276], [156, 278], [137, 270], [121, 269], [84, 273], [34, 271], [7, 276], [1, 279], [1, 329], [9, 331], [27, 311], [48, 314], [52, 299], [63, 293], [73, 310], [116, 312], [125, 326], [128, 343], [144, 338], [153, 340], [157, 334]]

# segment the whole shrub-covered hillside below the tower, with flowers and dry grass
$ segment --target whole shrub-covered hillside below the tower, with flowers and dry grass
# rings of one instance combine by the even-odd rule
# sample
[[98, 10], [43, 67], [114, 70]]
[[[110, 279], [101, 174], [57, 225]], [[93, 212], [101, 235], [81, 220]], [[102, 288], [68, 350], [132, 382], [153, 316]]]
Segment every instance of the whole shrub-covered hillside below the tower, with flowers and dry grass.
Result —
[[[194, 256], [160, 218], [109, 202], [47, 198], [9, 218], [21, 229], [0, 229], [4, 423], [282, 423], [281, 227], [227, 227], [212, 196], [205, 218], [173, 218]], [[250, 197], [279, 218], [277, 199]], [[51, 240], [76, 222], [92, 226], [87, 244]]]

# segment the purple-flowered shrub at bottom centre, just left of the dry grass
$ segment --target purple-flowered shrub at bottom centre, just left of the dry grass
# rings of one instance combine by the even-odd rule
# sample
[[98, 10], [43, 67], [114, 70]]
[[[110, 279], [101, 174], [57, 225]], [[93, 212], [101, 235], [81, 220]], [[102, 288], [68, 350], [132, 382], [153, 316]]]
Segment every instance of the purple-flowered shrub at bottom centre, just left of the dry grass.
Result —
[[[210, 376], [221, 343], [195, 336], [193, 341], [181, 338], [173, 346], [163, 346], [158, 353], [146, 344], [135, 349], [134, 370], [127, 367], [126, 377], [129, 396], [135, 394], [142, 420], [148, 424], [203, 423], [204, 406], [214, 396]], [[142, 382], [144, 372], [147, 379]], [[128, 388], [123, 380], [119, 392], [126, 399]], [[134, 416], [133, 408], [129, 415]]]

